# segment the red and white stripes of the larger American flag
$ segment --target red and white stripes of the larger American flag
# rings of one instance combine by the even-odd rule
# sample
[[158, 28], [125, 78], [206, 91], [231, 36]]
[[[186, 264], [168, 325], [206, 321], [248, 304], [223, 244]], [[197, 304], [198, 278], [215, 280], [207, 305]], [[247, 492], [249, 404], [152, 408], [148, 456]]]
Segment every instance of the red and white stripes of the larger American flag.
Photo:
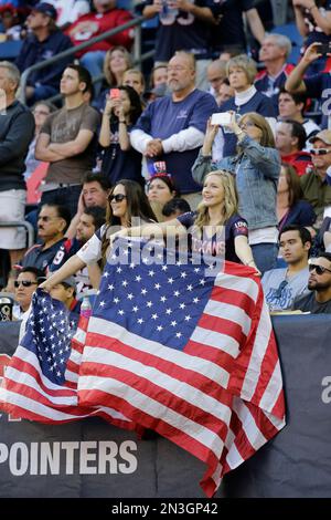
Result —
[[285, 426], [277, 345], [259, 280], [226, 262], [183, 351], [92, 316], [79, 370], [83, 406], [117, 409], [207, 465], [211, 497], [222, 477]]

